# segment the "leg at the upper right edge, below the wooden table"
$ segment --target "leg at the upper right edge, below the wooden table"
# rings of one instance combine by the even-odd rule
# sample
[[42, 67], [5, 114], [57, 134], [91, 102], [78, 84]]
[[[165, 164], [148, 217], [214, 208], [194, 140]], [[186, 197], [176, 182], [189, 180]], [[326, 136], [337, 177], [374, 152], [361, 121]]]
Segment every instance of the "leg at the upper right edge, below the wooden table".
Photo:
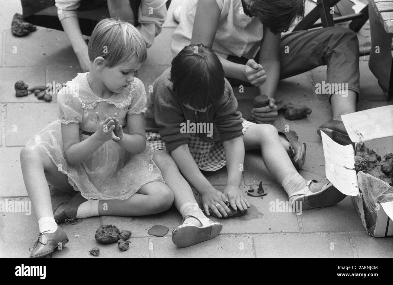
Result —
[[391, 44], [393, 34], [386, 33], [374, 7], [369, 4], [371, 51], [369, 68], [385, 88], [389, 88], [389, 74], [392, 63]]

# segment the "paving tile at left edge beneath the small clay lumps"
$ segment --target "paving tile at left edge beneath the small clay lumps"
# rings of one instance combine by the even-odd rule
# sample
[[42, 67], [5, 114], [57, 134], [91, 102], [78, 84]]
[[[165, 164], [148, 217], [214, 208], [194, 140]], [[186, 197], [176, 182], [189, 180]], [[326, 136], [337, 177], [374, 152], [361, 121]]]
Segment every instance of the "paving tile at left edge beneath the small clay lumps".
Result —
[[[0, 68], [0, 100], [2, 103], [8, 102], [44, 102], [39, 101], [33, 93], [28, 96], [15, 96], [15, 82], [22, 80], [30, 87], [45, 85], [45, 68], [43, 67], [2, 67]], [[46, 102], [44, 102], [46, 103]]]

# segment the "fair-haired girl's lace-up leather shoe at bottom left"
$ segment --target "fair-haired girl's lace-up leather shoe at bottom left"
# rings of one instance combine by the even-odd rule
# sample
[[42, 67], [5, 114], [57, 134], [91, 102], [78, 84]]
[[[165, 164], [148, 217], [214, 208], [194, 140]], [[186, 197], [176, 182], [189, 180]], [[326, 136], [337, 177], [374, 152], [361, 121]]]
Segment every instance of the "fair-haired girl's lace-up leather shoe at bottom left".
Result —
[[37, 241], [30, 246], [30, 258], [44, 257], [53, 252], [59, 245], [63, 246], [68, 243], [66, 232], [57, 226], [56, 232], [52, 234], [40, 233]]

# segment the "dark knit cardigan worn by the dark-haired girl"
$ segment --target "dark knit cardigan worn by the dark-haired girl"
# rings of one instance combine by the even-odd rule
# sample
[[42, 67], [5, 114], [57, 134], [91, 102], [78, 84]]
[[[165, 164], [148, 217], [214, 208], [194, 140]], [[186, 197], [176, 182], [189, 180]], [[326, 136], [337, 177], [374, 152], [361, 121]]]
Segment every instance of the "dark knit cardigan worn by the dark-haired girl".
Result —
[[[159, 132], [169, 152], [190, 142], [191, 134], [181, 133], [180, 124], [191, 121], [195, 113], [178, 101], [170, 77], [168, 68], [154, 81], [145, 112], [146, 132]], [[213, 123], [213, 136], [199, 134], [204, 142], [223, 142], [242, 135], [241, 113], [237, 111], [237, 99], [226, 79], [222, 98], [206, 112], [198, 112], [198, 122]]]

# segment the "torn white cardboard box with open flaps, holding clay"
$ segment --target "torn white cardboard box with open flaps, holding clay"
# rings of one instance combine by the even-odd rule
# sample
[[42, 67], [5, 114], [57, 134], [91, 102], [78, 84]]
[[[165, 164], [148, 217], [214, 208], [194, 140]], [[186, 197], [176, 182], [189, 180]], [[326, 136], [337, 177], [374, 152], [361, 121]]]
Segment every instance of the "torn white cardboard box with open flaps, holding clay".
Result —
[[[360, 143], [373, 150], [383, 159], [393, 153], [393, 105], [373, 108], [342, 116], [349, 137], [355, 142], [342, 146], [322, 133], [323, 152], [325, 155], [326, 177], [342, 193], [351, 195], [356, 210], [367, 233], [373, 237], [393, 236], [393, 201], [377, 204], [376, 214], [365, 206], [365, 193], [391, 192], [393, 187], [386, 182], [354, 170], [356, 150]], [[375, 225], [374, 219], [375, 218]]]

